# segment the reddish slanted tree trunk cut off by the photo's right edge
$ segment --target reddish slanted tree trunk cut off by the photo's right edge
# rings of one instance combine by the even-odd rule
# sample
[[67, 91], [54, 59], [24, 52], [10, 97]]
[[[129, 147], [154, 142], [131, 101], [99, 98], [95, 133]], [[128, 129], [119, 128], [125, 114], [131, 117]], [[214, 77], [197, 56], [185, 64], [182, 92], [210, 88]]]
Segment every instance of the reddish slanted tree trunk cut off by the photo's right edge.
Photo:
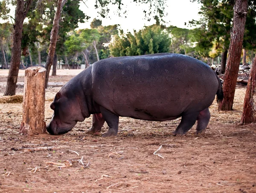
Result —
[[[256, 56], [255, 56], [256, 58]], [[256, 60], [254, 59], [244, 97], [241, 124], [256, 122]]]

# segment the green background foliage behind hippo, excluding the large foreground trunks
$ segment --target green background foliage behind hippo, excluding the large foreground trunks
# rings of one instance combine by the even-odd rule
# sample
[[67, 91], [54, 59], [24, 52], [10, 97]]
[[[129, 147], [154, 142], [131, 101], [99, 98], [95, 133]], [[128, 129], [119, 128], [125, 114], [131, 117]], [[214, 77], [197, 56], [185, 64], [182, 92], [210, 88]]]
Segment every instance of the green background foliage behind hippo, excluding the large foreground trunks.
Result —
[[[6, 9], [5, 0], [1, 9]], [[79, 10], [79, 0], [68, 0], [61, 15], [60, 30], [56, 44], [54, 68], [57, 61], [69, 68], [86, 66], [108, 57], [133, 56], [173, 52], [186, 54], [209, 65], [221, 65], [223, 74], [230, 43], [233, 21], [234, 0], [201, 0], [201, 20], [189, 21], [194, 29], [156, 24], [144, 26], [139, 31], [124, 33], [119, 25], [102, 26], [101, 20], [94, 19], [90, 29], [74, 30], [86, 16]], [[50, 42], [50, 31], [55, 14], [55, 1], [34, 1], [34, 9], [28, 11], [28, 21], [23, 24], [20, 68], [31, 65], [45, 65]], [[244, 41], [243, 62], [251, 63], [256, 51], [255, 2], [248, 5]], [[8, 10], [6, 10], [6, 13]], [[8, 17], [3, 14], [2, 18]], [[42, 17], [43, 16], [43, 17]], [[7, 68], [11, 62], [12, 24], [0, 24], [0, 62]], [[242, 62], [242, 61], [241, 61]]]

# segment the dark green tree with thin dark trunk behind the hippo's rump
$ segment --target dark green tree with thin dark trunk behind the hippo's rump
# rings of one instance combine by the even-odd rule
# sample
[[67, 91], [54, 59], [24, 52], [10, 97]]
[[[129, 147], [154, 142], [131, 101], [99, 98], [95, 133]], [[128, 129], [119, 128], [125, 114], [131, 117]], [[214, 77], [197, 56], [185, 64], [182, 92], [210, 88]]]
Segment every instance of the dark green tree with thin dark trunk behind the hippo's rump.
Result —
[[[202, 4], [202, 18], [199, 21], [192, 20], [192, 25], [200, 25], [203, 31], [199, 31], [202, 37], [199, 44], [205, 41], [214, 41], [215, 47], [221, 50], [221, 74], [224, 74], [227, 62], [228, 45], [230, 43], [231, 21], [233, 17], [234, 0], [192, 0]], [[210, 46], [212, 47], [212, 46]], [[209, 47], [207, 47], [208, 49]]]

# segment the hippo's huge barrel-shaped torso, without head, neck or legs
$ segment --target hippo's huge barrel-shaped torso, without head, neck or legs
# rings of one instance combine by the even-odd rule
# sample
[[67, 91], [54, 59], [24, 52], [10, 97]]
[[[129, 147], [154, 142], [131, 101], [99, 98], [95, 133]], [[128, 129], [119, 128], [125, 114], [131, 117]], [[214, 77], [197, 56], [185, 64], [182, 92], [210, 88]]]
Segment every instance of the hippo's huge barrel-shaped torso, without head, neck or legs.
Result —
[[211, 105], [214, 71], [181, 54], [114, 57], [92, 66], [93, 100], [119, 116], [167, 120]]

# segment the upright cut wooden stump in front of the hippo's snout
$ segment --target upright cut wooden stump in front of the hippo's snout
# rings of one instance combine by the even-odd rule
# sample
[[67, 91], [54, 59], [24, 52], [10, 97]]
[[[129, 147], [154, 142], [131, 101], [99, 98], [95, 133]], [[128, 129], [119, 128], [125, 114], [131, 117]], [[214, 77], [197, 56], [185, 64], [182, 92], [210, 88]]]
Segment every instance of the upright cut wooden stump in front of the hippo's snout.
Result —
[[46, 133], [44, 122], [45, 74], [43, 67], [29, 67], [25, 71], [23, 118], [20, 134]]

